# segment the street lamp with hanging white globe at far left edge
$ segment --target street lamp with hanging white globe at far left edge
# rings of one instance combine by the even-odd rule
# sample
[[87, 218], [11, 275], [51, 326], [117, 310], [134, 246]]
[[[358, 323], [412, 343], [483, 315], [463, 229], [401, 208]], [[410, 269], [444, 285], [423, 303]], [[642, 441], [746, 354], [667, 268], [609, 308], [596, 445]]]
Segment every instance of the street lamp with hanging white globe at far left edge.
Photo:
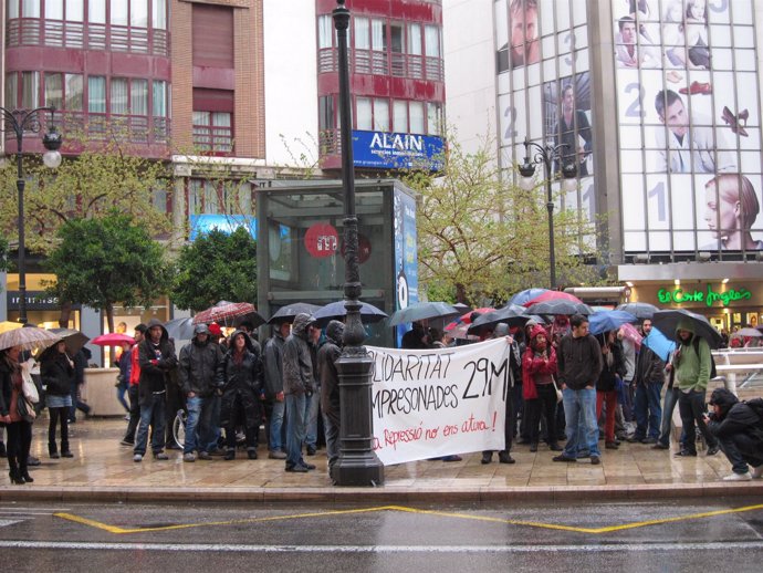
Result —
[[50, 112], [51, 124], [46, 134], [42, 137], [42, 145], [45, 146], [45, 154], [42, 156], [42, 162], [45, 167], [51, 169], [61, 165], [61, 134], [53, 126], [55, 118], [55, 108], [53, 107], [38, 107], [31, 112], [24, 110], [7, 110], [0, 107], [4, 118], [3, 131], [12, 129], [15, 133], [15, 167], [17, 179], [15, 188], [19, 191], [19, 322], [27, 324], [27, 248], [24, 244], [24, 165], [23, 165], [23, 143], [24, 132], [40, 133], [42, 125], [40, 122], [41, 115], [44, 112]]

